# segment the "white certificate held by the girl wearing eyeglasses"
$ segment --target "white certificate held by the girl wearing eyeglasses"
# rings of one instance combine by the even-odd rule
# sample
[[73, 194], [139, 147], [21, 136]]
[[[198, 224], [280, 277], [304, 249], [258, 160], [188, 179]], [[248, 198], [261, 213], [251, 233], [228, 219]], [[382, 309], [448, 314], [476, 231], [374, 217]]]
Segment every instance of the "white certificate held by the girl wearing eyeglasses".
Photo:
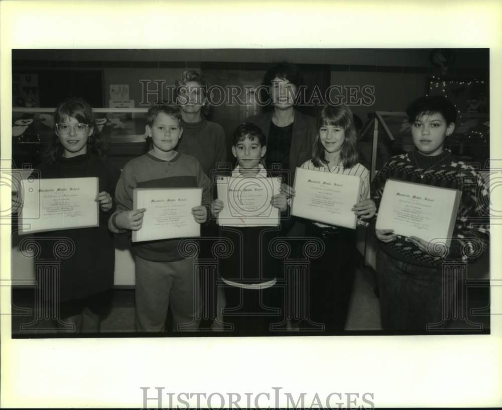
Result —
[[33, 179], [23, 182], [20, 233], [99, 226], [98, 178]]

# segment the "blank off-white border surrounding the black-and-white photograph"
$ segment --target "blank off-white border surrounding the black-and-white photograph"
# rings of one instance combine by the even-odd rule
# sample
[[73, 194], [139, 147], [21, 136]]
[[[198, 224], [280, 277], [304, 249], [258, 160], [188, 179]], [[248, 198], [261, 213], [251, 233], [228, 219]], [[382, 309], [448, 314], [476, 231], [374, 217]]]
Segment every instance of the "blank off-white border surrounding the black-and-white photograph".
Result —
[[[500, 2], [180, 3], [0, 2], [2, 165], [11, 155], [13, 48], [489, 47], [490, 134], [502, 135]], [[491, 157], [502, 162], [499, 138], [491, 140]], [[492, 201], [502, 209], [500, 192]], [[499, 315], [490, 335], [11, 339], [11, 234], [4, 221], [0, 228], [2, 407], [138, 408], [140, 387], [153, 395], [154, 387], [243, 394], [279, 386], [295, 397], [372, 392], [378, 407], [502, 405], [500, 286], [492, 289]], [[499, 249], [500, 226], [493, 225], [498, 281]]]

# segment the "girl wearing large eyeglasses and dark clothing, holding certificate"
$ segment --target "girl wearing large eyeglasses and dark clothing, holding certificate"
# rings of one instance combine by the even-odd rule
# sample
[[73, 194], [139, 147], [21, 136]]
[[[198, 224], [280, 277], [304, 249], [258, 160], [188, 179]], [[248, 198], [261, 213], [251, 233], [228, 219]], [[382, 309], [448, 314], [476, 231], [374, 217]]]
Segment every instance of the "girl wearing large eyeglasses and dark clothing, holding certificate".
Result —
[[[75, 332], [99, 332], [101, 316], [109, 307], [113, 286], [115, 248], [108, 231], [113, 213], [113, 195], [119, 171], [106, 161], [104, 144], [99, 136], [91, 107], [80, 98], [69, 98], [54, 112], [54, 134], [39, 167], [40, 178], [98, 177], [99, 227], [51, 231], [37, 234], [42, 258], [54, 259], [53, 246], [58, 238], [69, 238], [75, 252], [60, 258], [60, 289], [46, 305], [59, 306], [59, 329]], [[53, 286], [46, 277], [37, 277], [39, 286]], [[53, 289], [54, 290], [54, 289]], [[47, 303], [49, 302], [49, 303]], [[51, 315], [55, 318], [54, 313]]]

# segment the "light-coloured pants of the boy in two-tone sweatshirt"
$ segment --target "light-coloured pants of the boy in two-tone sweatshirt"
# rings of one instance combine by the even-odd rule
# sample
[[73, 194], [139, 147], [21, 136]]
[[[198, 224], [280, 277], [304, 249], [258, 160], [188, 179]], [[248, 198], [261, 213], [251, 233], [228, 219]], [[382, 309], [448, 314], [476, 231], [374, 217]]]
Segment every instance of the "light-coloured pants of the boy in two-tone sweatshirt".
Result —
[[193, 258], [152, 262], [135, 256], [135, 262], [136, 330], [164, 331], [169, 306], [174, 331], [197, 330], [201, 301]]

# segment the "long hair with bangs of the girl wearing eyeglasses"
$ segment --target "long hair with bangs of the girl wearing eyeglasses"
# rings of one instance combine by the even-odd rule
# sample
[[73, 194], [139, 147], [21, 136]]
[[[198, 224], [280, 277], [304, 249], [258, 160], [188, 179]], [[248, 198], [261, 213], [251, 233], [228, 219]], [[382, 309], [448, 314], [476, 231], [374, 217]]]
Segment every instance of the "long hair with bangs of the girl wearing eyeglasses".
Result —
[[79, 123], [87, 124], [92, 129], [92, 134], [87, 138], [87, 150], [97, 155], [101, 159], [106, 158], [106, 144], [101, 139], [101, 135], [96, 125], [96, 120], [91, 106], [82, 98], [67, 98], [58, 104], [54, 111], [54, 132], [49, 147], [44, 154], [49, 163], [53, 163], [63, 155], [64, 148], [61, 146], [59, 136], [56, 131], [56, 124], [64, 123], [73, 117]]

